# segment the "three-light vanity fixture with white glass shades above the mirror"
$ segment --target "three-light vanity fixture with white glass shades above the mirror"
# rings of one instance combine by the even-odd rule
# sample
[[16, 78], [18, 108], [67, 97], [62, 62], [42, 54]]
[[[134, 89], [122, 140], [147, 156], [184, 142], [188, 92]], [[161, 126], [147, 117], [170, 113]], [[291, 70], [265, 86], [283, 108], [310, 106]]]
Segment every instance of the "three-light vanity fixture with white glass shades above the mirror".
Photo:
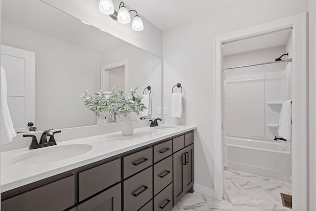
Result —
[[116, 11], [114, 9], [112, 0], [100, 0], [99, 10], [103, 14], [110, 15], [112, 19], [117, 20], [118, 23], [121, 23], [121, 24], [128, 24], [130, 22], [129, 13], [131, 11], [134, 11], [136, 12], [136, 15], [134, 16], [133, 21], [132, 21], [132, 29], [137, 32], [144, 30], [143, 21], [139, 17], [137, 11], [134, 9], [131, 9], [128, 11], [127, 8], [124, 6], [123, 1], [119, 3], [118, 11]]

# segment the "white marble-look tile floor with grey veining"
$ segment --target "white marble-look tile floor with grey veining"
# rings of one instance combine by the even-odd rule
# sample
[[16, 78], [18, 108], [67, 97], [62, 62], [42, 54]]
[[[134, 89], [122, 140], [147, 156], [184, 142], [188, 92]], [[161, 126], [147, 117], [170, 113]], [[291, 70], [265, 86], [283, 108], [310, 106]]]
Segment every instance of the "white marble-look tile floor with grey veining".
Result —
[[172, 211], [291, 211], [282, 206], [280, 193], [292, 195], [292, 184], [224, 169], [222, 201], [188, 193]]

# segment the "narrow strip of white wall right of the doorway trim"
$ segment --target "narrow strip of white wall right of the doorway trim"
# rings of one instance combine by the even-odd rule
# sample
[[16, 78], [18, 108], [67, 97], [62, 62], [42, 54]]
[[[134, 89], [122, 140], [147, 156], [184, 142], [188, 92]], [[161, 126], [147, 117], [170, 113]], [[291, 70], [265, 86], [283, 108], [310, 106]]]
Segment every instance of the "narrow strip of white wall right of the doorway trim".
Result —
[[309, 9], [309, 208], [310, 211], [314, 211], [316, 208], [316, 143], [315, 143], [315, 131], [316, 131], [316, 1], [308, 1]]

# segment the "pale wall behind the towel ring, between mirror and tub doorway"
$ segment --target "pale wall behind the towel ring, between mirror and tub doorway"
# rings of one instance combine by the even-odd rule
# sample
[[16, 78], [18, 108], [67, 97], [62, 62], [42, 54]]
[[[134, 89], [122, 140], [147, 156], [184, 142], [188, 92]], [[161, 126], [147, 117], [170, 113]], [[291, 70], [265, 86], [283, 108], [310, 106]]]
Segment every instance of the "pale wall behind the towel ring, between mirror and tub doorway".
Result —
[[[171, 88], [184, 88], [185, 115], [179, 124], [196, 125], [195, 183], [214, 188], [214, 37], [308, 10], [308, 0], [253, 0], [163, 32], [163, 104]], [[175, 122], [169, 115], [166, 122]]]

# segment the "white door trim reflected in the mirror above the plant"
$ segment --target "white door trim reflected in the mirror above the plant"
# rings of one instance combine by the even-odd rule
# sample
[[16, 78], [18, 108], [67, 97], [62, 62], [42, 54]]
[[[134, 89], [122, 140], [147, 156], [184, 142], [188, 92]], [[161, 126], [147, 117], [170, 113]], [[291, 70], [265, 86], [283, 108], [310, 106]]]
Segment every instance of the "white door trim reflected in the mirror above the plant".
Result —
[[125, 90], [129, 89], [128, 87], [128, 75], [129, 75], [128, 59], [101, 66], [101, 87], [100, 87], [101, 89], [103, 89], [104, 85], [106, 85], [106, 90], [110, 91], [109, 83], [107, 82], [109, 79], [109, 72], [107, 70], [111, 70], [118, 67], [124, 67], [124, 86], [125, 86]]

